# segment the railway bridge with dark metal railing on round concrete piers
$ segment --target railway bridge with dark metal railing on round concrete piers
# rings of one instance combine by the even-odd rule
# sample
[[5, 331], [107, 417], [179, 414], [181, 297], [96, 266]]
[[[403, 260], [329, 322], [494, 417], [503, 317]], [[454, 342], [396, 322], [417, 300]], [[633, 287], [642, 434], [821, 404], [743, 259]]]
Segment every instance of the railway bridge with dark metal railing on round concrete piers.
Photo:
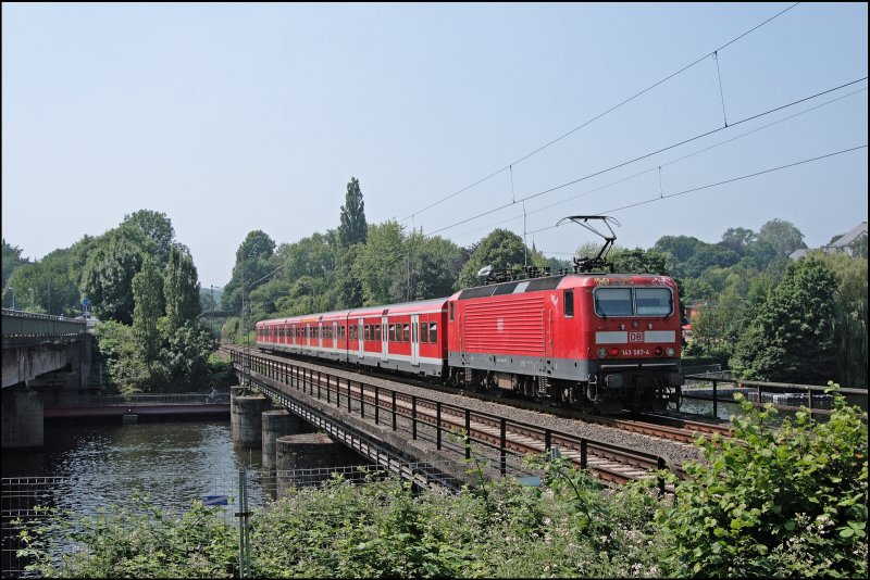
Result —
[[[656, 454], [626, 453], [622, 446], [605, 441], [523, 423], [505, 414], [472, 411], [449, 395], [428, 389], [399, 389], [376, 379], [361, 380], [350, 373], [327, 373], [312, 364], [239, 349], [231, 349], [231, 361], [243, 384], [256, 391], [245, 393], [240, 391], [243, 387], [234, 388], [234, 439], [239, 442], [239, 433], [245, 432], [256, 436], [243, 444], [262, 444], [264, 467], [274, 462], [278, 474], [298, 467], [293, 459], [282, 463], [282, 445], [291, 450], [284, 455], [293, 456], [316, 443], [308, 433], [295, 434], [300, 432], [299, 420], [325, 432], [327, 442], [343, 444], [372, 464], [398, 471], [420, 486], [455, 489], [482, 477], [504, 475], [533, 482], [535, 477], [523, 467], [522, 458], [545, 450], [559, 450], [561, 456], [611, 483], [623, 483], [669, 465]], [[268, 425], [272, 414], [283, 413], [270, 411], [273, 404], [295, 417], [283, 432]], [[328, 459], [333, 452], [322, 443], [321, 450], [325, 451], [315, 455]], [[270, 458], [270, 453], [275, 459]], [[415, 466], [413, 472], [402, 471], [407, 465]], [[315, 466], [331, 467], [324, 463]], [[663, 481], [660, 486], [663, 489]]]

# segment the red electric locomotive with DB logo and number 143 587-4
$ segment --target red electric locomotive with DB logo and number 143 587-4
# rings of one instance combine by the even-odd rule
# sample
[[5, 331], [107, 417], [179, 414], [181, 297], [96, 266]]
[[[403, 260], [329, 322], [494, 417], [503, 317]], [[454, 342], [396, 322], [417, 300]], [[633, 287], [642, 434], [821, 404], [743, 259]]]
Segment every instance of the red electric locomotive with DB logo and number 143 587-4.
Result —
[[448, 301], [452, 384], [600, 411], [650, 407], [682, 384], [676, 285], [568, 274], [470, 288]]

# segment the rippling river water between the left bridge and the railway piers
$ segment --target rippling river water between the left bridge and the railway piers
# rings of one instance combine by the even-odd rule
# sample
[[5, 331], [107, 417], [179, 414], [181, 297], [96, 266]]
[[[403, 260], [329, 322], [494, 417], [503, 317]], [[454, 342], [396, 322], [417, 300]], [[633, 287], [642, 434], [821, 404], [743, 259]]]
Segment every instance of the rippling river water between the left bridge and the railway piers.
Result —
[[[237, 495], [239, 469], [257, 472], [259, 450], [234, 445], [229, 421], [53, 423], [40, 451], [3, 452], [2, 477], [51, 477], [52, 503], [75, 512], [128, 506], [136, 494], [186, 508], [208, 495]], [[248, 494], [262, 496], [256, 478]], [[258, 502], [259, 503], [259, 502]]]

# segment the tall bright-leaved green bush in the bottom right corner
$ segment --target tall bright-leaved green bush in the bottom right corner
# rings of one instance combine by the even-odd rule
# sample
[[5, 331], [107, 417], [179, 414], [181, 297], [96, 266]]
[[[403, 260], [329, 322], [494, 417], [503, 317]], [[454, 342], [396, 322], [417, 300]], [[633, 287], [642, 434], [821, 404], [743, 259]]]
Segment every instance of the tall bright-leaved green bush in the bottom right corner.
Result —
[[804, 409], [776, 428], [770, 405], [742, 404], [733, 439], [700, 439], [656, 513], [666, 576], [866, 578], [867, 414], [836, 396], [829, 420]]

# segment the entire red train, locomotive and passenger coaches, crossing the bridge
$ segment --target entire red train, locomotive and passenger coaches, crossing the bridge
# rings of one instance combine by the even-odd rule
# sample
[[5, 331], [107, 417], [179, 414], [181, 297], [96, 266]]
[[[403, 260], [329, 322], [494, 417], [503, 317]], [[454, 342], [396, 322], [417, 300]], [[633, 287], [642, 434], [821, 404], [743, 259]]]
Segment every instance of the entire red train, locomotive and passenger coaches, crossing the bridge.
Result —
[[678, 300], [667, 276], [561, 274], [261, 320], [257, 346], [599, 412], [652, 408], [683, 382]]

